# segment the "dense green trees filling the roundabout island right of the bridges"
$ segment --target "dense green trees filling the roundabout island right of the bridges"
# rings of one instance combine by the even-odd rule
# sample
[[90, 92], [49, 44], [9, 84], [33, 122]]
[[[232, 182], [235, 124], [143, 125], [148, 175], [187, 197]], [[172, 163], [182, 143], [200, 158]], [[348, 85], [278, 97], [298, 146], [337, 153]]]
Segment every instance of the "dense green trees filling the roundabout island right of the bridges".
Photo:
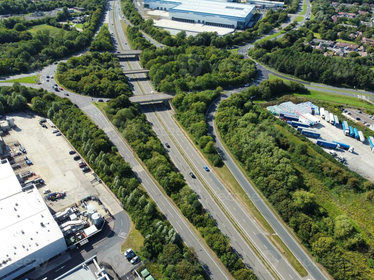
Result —
[[254, 62], [214, 46], [146, 49], [141, 63], [156, 89], [171, 93], [246, 84], [255, 76]]

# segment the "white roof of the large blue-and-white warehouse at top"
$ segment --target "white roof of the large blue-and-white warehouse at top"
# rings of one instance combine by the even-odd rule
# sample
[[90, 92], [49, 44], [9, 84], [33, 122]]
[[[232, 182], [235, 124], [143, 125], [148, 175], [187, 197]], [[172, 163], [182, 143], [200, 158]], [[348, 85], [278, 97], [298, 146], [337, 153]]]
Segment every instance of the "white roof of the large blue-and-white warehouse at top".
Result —
[[[172, 2], [177, 5], [169, 8], [169, 11], [187, 11], [196, 13], [207, 13], [236, 18], [246, 18], [255, 9], [255, 5], [231, 3], [216, 0], [163, 0], [162, 2]], [[180, 3], [178, 5], [178, 3]]]

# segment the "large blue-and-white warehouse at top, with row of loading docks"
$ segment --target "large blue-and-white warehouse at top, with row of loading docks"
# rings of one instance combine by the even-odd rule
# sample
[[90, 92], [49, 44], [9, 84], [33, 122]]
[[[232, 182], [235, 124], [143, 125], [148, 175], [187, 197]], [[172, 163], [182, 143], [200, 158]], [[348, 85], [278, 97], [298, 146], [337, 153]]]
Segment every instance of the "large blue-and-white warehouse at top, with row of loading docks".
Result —
[[255, 5], [217, 0], [144, 0], [144, 7], [168, 11], [172, 21], [233, 29], [246, 27], [255, 12]]

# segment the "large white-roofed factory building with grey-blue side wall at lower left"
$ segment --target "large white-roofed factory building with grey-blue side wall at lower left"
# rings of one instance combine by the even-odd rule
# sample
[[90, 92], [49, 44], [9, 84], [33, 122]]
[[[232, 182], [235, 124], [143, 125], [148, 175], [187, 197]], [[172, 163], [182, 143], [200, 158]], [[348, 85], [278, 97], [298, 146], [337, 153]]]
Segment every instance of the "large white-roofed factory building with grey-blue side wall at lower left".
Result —
[[67, 249], [35, 185], [22, 187], [7, 159], [0, 161], [0, 280], [11, 280]]

